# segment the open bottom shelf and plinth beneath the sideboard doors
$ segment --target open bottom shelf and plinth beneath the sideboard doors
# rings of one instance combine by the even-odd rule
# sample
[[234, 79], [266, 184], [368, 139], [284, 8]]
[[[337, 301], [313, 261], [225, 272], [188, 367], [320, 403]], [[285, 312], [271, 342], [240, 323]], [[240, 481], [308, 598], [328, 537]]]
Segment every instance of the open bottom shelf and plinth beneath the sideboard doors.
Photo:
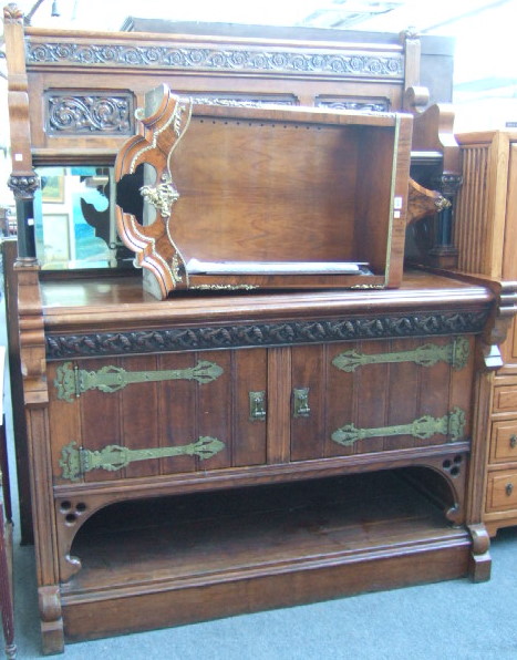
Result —
[[471, 545], [402, 471], [113, 505], [74, 540], [65, 637], [456, 578]]

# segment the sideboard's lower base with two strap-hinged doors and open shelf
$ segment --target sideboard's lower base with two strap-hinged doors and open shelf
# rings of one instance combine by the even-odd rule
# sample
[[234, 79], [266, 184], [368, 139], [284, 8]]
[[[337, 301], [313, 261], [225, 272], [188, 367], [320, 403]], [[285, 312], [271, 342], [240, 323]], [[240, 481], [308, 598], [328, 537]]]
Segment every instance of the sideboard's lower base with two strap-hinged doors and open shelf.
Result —
[[126, 278], [41, 292], [49, 401], [35, 386], [27, 412], [48, 474], [33, 482], [48, 651], [487, 577], [471, 473], [486, 287], [415, 271], [363, 292], [156, 301]]

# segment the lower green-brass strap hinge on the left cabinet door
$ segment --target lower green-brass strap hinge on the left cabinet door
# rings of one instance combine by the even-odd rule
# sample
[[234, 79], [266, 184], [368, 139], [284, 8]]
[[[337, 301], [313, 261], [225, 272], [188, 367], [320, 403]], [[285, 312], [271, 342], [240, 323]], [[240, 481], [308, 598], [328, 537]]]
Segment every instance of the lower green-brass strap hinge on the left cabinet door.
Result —
[[117, 444], [110, 444], [102, 450], [85, 450], [71, 442], [61, 450], [59, 462], [61, 476], [72, 482], [79, 481], [92, 470], [115, 472], [136, 461], [169, 458], [170, 456], [198, 456], [203, 461], [211, 458], [225, 448], [225, 443], [217, 437], [200, 436], [196, 442], [174, 447], [149, 447], [130, 450]]

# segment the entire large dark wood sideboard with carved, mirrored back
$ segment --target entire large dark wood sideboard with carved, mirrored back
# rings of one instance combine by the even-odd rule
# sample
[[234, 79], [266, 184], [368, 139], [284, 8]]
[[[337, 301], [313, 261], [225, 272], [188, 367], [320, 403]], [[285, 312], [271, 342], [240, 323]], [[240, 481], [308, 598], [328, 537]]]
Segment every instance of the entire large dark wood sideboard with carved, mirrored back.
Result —
[[[417, 38], [364, 44], [51, 32], [23, 29], [13, 6], [4, 22], [20, 375], [44, 652], [62, 651], [65, 641], [373, 589], [487, 579], [489, 372], [500, 365], [497, 344], [514, 313], [515, 286], [445, 270], [454, 252], [449, 200], [410, 183], [410, 165], [424, 183], [459, 175], [451, 114], [424, 111]], [[370, 163], [375, 144], [391, 145], [379, 149], [381, 171], [365, 186], [355, 127], [339, 143], [353, 158], [318, 137], [321, 153], [332, 155], [323, 172], [330, 176], [340, 163], [353, 182], [347, 236], [358, 235], [358, 256], [370, 255], [373, 279], [321, 290], [310, 280], [290, 291], [213, 280], [159, 296], [145, 290], [114, 233], [113, 165], [136, 133], [134, 109], [164, 83], [190, 99], [197, 118], [189, 131], [201, 137], [207, 121], [221, 130], [234, 123], [237, 135], [244, 117], [259, 135], [273, 123], [286, 135], [307, 135], [362, 122]], [[298, 124], [286, 105], [307, 106]], [[389, 137], [371, 141], [369, 127]], [[174, 113], [166, 128], [182, 132]], [[239, 140], [246, 143], [246, 134]], [[278, 140], [276, 153], [292, 146], [292, 137]], [[249, 158], [234, 162], [244, 167]], [[312, 202], [311, 185], [331, 197], [329, 176], [293, 171], [302, 202]], [[255, 189], [256, 198], [265, 190]], [[332, 213], [344, 206], [338, 193], [340, 204], [329, 199], [325, 207]], [[69, 197], [86, 218], [73, 230], [63, 220]], [[174, 194], [167, 199], [175, 204]], [[133, 202], [123, 212], [136, 217], [142, 199]], [[159, 199], [156, 208], [158, 220], [168, 217]], [[431, 246], [426, 267], [404, 270], [405, 224], [415, 226], [430, 208], [447, 240]], [[316, 229], [332, 230], [333, 221], [312, 210]], [[360, 212], [370, 218], [368, 240]], [[56, 230], [60, 223], [68, 234]], [[87, 241], [85, 225], [95, 229]], [[139, 231], [148, 243], [147, 228], [134, 229], [133, 238]], [[63, 234], [73, 244], [68, 251]], [[275, 240], [270, 225], [262, 234], [257, 245]], [[307, 224], [290, 249], [299, 241], [301, 261], [310, 261], [307, 240], [318, 239], [324, 259], [332, 258], [332, 236], [320, 240]], [[241, 254], [249, 261], [248, 248]], [[273, 254], [285, 259], [282, 246]], [[174, 255], [167, 267], [182, 281]]]

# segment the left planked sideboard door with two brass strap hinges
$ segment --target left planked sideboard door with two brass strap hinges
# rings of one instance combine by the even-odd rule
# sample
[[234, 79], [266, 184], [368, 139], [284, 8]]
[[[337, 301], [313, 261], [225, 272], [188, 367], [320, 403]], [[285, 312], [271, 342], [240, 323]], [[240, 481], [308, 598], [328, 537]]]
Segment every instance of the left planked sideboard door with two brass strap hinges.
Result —
[[49, 365], [56, 483], [266, 462], [262, 349]]

